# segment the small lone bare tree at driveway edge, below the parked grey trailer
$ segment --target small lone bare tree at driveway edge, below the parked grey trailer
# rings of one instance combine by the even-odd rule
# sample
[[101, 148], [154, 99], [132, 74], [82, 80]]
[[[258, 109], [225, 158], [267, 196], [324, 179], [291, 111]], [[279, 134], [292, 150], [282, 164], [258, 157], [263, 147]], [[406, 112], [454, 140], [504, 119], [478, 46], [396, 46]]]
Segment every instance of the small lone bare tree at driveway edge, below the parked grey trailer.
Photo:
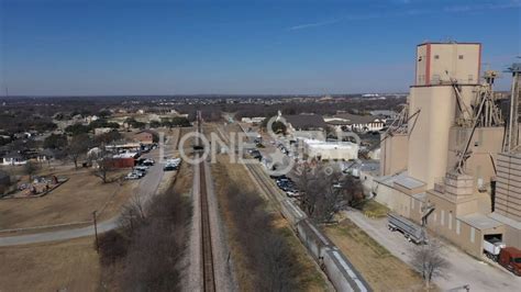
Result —
[[428, 289], [431, 287], [432, 278], [443, 276], [450, 267], [448, 261], [443, 257], [442, 248], [441, 242], [436, 238], [432, 238], [426, 245], [413, 247], [412, 265], [420, 271]]

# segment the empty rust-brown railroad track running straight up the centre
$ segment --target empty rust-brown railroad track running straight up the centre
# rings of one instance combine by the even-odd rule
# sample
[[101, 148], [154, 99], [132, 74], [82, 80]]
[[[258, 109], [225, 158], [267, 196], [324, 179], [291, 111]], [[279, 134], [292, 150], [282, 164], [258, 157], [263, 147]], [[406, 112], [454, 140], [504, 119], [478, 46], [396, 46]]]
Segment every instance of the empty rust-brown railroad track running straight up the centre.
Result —
[[[201, 113], [198, 112], [198, 132], [202, 134], [201, 127]], [[202, 146], [202, 142], [199, 139], [199, 146]], [[202, 153], [199, 153], [199, 157], [202, 157]], [[213, 269], [213, 250], [212, 250], [212, 236], [210, 227], [210, 213], [208, 209], [208, 193], [207, 193], [207, 179], [204, 172], [204, 161], [199, 162], [199, 194], [201, 202], [201, 256], [202, 256], [202, 277], [203, 277], [203, 290], [215, 291], [215, 277]]]

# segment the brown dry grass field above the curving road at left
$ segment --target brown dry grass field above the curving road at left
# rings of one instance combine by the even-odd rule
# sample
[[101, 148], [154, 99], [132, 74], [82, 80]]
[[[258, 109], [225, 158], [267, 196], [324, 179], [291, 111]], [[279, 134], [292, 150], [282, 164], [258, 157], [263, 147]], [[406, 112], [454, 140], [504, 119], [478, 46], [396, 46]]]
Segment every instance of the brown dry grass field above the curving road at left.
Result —
[[[113, 172], [121, 176], [128, 171]], [[89, 221], [92, 211], [103, 210], [100, 220], [114, 216], [128, 201], [135, 181], [102, 183], [85, 169], [54, 172], [69, 178], [67, 182], [42, 198], [0, 200], [0, 229]]]

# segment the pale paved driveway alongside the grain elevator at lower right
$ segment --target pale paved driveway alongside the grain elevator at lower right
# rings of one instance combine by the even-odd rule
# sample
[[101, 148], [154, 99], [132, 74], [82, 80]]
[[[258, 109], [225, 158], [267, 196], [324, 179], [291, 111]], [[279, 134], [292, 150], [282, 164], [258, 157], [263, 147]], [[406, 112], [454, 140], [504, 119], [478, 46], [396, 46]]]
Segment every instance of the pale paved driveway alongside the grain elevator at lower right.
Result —
[[[386, 247], [393, 256], [409, 263], [411, 260], [411, 243], [401, 233], [387, 229], [387, 220], [372, 220], [358, 211], [344, 212], [358, 227]], [[464, 254], [452, 245], [446, 245], [446, 259], [451, 262], [446, 278], [436, 278], [434, 283], [444, 291], [453, 290], [464, 284], [470, 285], [470, 291], [519, 291], [521, 278], [502, 270], [501, 267], [489, 266]], [[496, 265], [496, 263], [492, 263]]]

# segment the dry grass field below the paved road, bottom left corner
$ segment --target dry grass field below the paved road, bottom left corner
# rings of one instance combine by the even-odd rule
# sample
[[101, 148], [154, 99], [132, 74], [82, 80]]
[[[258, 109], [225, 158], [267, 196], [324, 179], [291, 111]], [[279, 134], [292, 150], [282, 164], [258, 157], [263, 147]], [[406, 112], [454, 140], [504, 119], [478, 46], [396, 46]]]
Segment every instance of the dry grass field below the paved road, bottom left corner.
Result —
[[99, 285], [92, 237], [1, 247], [0, 259], [0, 291], [97, 291]]

